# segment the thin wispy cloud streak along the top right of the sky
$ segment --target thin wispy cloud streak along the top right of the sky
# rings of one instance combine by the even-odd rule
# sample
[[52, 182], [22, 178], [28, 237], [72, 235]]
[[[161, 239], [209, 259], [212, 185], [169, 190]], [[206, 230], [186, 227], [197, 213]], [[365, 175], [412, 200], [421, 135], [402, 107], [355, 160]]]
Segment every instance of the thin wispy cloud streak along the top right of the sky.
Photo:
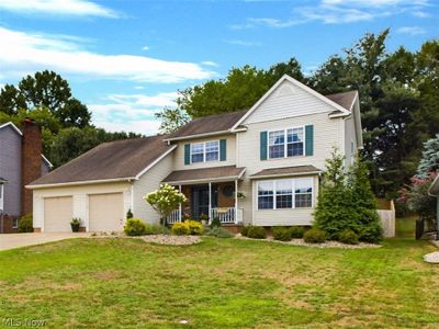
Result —
[[284, 20], [249, 18], [244, 24], [234, 24], [230, 29], [244, 30], [257, 26], [285, 29], [309, 22], [344, 24], [371, 21], [404, 12], [424, 18], [426, 14], [421, 9], [428, 5], [428, 0], [320, 0], [315, 5], [294, 7], [292, 15]]

